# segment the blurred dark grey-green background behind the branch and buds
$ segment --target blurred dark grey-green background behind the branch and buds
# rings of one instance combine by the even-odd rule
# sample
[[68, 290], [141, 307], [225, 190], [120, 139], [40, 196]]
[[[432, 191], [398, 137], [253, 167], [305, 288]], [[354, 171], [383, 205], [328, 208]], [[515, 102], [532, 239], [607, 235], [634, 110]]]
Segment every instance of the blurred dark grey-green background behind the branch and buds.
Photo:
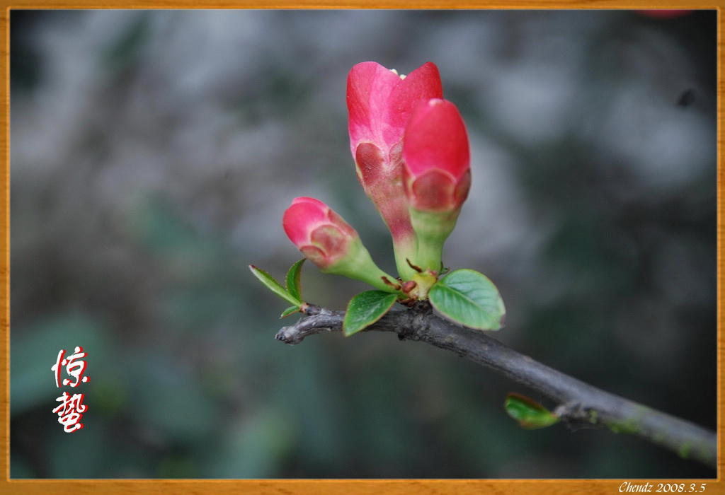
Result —
[[[495, 337], [716, 426], [716, 12], [17, 11], [11, 20], [11, 475], [680, 478], [610, 431], [523, 431], [486, 368], [390, 334], [273, 337], [292, 198], [387, 271], [355, 177], [357, 62], [435, 62], [471, 138], [445, 263], [500, 288]], [[303, 273], [342, 309], [363, 284]], [[88, 352], [64, 433], [50, 368]], [[67, 387], [66, 387], [67, 389]], [[547, 403], [550, 407], [555, 406]]]

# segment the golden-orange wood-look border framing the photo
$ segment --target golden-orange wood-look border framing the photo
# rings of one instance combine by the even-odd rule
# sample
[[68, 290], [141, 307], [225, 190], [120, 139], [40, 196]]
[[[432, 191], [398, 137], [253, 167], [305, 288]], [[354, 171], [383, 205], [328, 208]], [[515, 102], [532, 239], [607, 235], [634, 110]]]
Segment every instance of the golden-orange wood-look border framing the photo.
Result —
[[[723, 83], [723, 27], [722, 8], [725, 0], [717, 3], [695, 0], [17, 0], [2, 1], [3, 9], [0, 19], [0, 54], [4, 62], [1, 71], [2, 91], [0, 125], [4, 130], [0, 142], [0, 152], [4, 157], [4, 169], [0, 174], [0, 232], [3, 233], [2, 259], [0, 263], [0, 356], [2, 369], [0, 373], [0, 465], [3, 473], [0, 476], [0, 494], [18, 495], [87, 495], [87, 494], [181, 494], [181, 495], [246, 495], [260, 493], [276, 493], [281, 495], [481, 495], [481, 494], [516, 494], [516, 495], [595, 495], [618, 494], [625, 481], [631, 483], [649, 483], [655, 487], [657, 483], [707, 483], [704, 494], [725, 494], [725, 483], [722, 481], [723, 457], [722, 438], [724, 433], [723, 395], [722, 395], [722, 352], [724, 339], [722, 334], [723, 298], [723, 127], [721, 125], [724, 83]], [[9, 446], [9, 336], [10, 336], [10, 305], [9, 305], [9, 18], [12, 9], [715, 9], [718, 11], [718, 200], [717, 200], [717, 346], [718, 346], [718, 470], [717, 478], [708, 479], [614, 479], [614, 480], [10, 480], [10, 446]], [[68, 460], [72, 462], [72, 459]], [[656, 488], [655, 488], [656, 489]], [[655, 489], [651, 493], [655, 493]], [[687, 493], [687, 492], [685, 492]]]

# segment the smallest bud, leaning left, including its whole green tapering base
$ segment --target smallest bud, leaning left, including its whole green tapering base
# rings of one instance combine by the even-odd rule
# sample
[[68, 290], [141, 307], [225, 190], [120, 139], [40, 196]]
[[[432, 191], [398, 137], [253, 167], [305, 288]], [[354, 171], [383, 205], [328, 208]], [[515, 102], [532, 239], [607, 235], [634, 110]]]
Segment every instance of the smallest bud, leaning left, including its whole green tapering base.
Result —
[[397, 292], [384, 282], [394, 278], [376, 266], [355, 229], [322, 201], [295, 198], [284, 212], [282, 226], [289, 240], [323, 273]]

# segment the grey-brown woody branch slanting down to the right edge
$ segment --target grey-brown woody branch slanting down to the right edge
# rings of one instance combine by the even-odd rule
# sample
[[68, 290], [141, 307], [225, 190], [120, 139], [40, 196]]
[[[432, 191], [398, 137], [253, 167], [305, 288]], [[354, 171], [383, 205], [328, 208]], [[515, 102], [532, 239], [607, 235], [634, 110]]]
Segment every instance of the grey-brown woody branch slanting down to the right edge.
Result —
[[[307, 316], [286, 326], [276, 339], [299, 344], [323, 331], [341, 331], [344, 313], [307, 305]], [[389, 331], [400, 339], [426, 342], [492, 368], [518, 383], [537, 390], [558, 404], [554, 413], [565, 423], [609, 428], [638, 436], [680, 457], [717, 467], [717, 436], [689, 421], [660, 413], [572, 378], [489, 337], [444, 320], [429, 305], [392, 310], [365, 331]]]

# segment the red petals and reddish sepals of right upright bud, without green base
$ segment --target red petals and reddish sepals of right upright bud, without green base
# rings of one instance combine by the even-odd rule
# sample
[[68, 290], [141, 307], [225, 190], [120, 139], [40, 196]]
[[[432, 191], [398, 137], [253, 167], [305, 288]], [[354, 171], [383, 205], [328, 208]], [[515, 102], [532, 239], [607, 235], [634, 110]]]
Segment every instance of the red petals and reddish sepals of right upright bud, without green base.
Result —
[[405, 193], [419, 211], [460, 210], [471, 187], [471, 153], [455, 105], [421, 101], [410, 116], [403, 144]]

